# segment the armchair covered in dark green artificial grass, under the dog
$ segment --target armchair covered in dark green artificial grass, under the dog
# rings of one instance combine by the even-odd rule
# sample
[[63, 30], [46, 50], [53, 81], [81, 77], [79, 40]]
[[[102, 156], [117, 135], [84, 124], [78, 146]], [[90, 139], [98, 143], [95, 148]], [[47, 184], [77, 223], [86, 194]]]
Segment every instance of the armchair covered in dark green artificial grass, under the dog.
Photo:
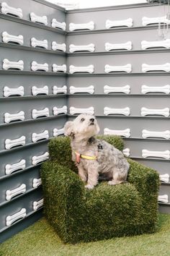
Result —
[[[120, 137], [99, 138], [123, 149]], [[63, 242], [89, 242], [156, 231], [156, 171], [128, 159], [128, 183], [110, 186], [101, 182], [89, 190], [76, 174], [68, 137], [50, 140], [49, 153], [50, 160], [41, 169], [44, 213]]]

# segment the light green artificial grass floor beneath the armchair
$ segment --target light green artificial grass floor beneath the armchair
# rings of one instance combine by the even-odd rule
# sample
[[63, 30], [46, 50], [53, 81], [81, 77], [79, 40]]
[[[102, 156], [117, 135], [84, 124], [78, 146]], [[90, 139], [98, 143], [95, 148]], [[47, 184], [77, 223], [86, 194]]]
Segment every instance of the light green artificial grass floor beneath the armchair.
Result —
[[63, 244], [45, 218], [8, 239], [1, 256], [163, 256], [170, 255], [170, 215], [159, 214], [155, 234], [121, 237], [99, 242]]

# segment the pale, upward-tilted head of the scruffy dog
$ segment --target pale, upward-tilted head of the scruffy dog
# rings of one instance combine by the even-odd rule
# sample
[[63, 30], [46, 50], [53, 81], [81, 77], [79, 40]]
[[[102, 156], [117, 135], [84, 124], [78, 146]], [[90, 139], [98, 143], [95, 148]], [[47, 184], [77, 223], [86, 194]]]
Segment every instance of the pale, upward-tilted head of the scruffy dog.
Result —
[[67, 121], [64, 133], [69, 137], [76, 137], [78, 140], [89, 139], [99, 133], [99, 125], [95, 116], [80, 114], [73, 121]]

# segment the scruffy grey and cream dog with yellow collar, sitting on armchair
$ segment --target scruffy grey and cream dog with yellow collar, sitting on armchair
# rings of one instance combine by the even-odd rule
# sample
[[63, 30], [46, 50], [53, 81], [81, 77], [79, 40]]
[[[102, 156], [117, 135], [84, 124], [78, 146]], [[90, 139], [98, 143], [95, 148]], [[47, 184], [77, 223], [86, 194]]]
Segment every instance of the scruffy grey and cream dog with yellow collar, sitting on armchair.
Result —
[[73, 121], [67, 121], [64, 130], [65, 135], [71, 137], [72, 160], [82, 181], [87, 182], [86, 188], [93, 189], [101, 174], [110, 185], [126, 181], [129, 163], [120, 150], [94, 137], [99, 133], [94, 116], [80, 114]]

